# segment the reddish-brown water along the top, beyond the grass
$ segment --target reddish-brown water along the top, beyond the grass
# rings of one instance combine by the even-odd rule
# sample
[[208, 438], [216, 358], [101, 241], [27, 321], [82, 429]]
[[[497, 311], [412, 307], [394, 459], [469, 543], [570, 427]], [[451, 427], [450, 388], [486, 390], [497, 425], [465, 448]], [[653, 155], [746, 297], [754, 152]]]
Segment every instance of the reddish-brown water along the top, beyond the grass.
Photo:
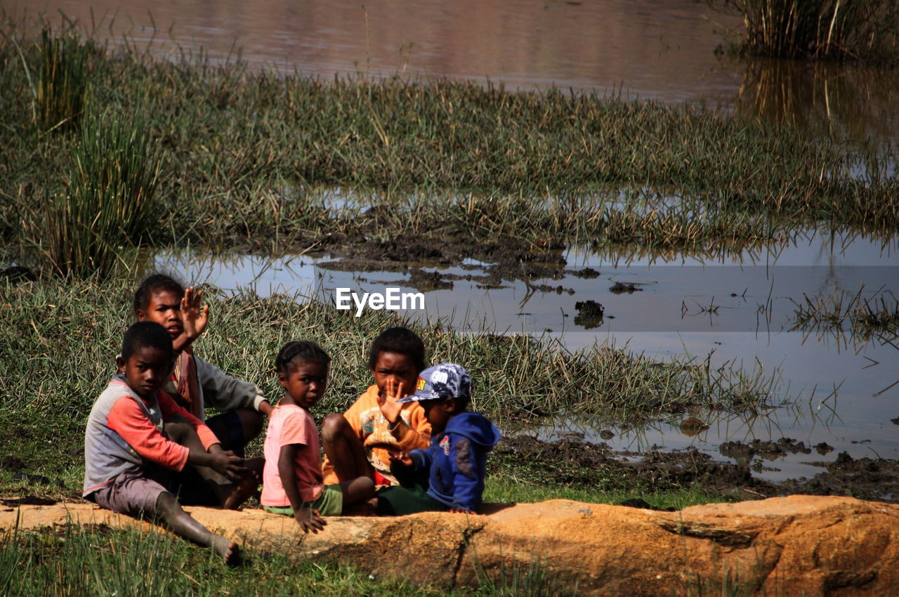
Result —
[[[7, 11], [22, 3], [0, 0]], [[307, 76], [449, 77], [736, 109], [856, 140], [899, 140], [899, 69], [719, 59], [740, 19], [696, 0], [47, 0], [102, 39], [160, 58]], [[31, 9], [32, 11], [34, 8]]]

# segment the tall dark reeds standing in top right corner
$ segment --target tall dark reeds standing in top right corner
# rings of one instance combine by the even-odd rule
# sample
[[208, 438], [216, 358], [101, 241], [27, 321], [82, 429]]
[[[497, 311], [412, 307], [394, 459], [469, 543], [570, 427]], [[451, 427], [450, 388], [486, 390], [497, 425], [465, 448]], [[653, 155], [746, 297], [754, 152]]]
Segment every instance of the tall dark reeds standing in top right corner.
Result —
[[737, 47], [742, 54], [899, 63], [894, 0], [723, 0], [719, 5], [743, 16]]

